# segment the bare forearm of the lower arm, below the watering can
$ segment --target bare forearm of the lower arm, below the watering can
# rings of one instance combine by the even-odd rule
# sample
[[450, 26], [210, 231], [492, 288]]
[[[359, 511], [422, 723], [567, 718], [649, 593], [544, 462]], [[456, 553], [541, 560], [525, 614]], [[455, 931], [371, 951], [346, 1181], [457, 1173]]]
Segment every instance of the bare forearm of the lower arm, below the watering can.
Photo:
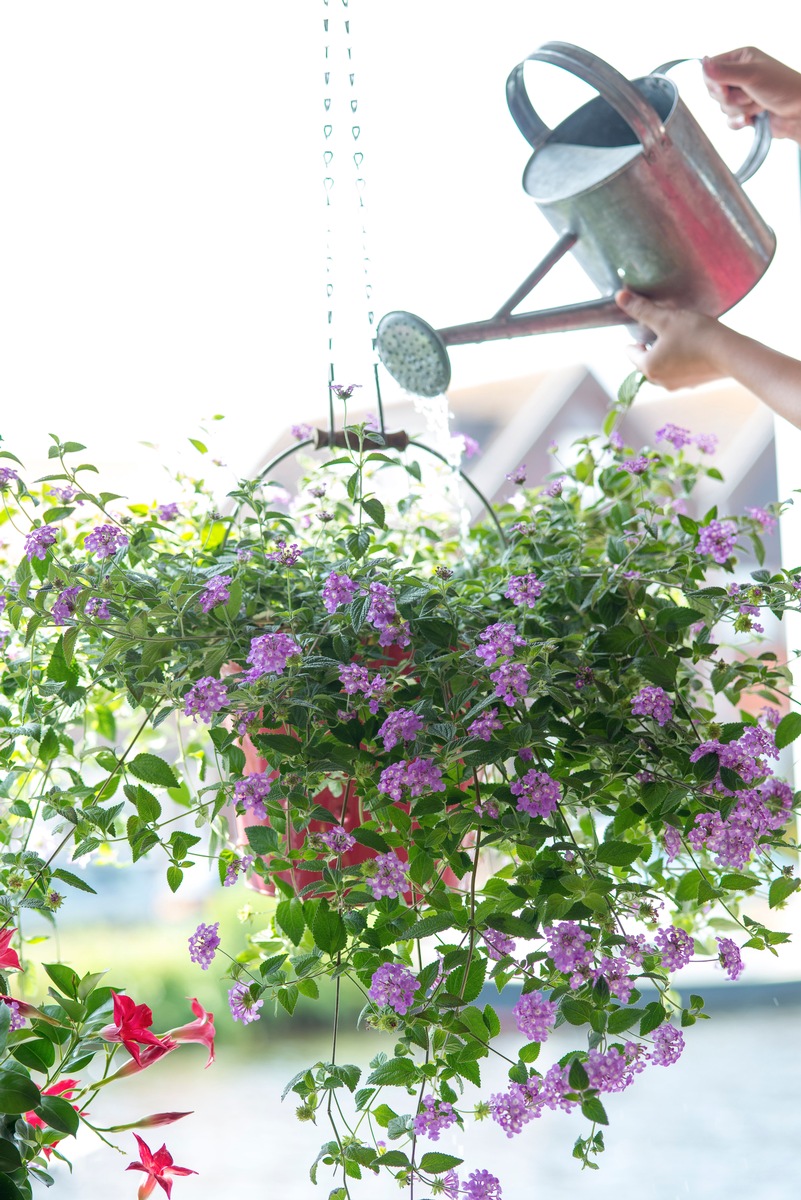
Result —
[[712, 337], [711, 353], [719, 373], [736, 379], [801, 428], [801, 362], [725, 325], [718, 325]]

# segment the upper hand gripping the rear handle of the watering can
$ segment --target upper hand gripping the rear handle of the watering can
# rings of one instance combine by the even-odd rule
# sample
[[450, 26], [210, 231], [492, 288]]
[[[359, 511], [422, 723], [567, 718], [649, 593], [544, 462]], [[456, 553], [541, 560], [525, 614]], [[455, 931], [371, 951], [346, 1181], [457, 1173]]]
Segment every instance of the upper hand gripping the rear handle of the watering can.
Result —
[[775, 138], [801, 144], [801, 74], [753, 46], [703, 60], [704, 80], [733, 130], [770, 114]]

